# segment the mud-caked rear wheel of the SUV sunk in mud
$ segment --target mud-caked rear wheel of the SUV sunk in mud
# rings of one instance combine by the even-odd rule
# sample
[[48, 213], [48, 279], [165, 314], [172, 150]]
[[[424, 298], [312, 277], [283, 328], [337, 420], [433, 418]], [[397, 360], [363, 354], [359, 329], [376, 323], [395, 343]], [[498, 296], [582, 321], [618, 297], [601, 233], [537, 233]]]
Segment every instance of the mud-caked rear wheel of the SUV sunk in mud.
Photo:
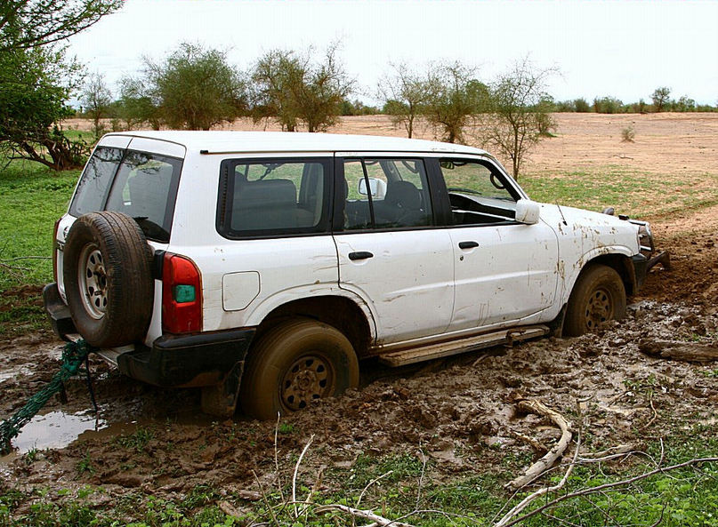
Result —
[[359, 362], [335, 327], [313, 320], [280, 323], [260, 338], [246, 359], [240, 400], [256, 419], [302, 410], [311, 401], [359, 384]]

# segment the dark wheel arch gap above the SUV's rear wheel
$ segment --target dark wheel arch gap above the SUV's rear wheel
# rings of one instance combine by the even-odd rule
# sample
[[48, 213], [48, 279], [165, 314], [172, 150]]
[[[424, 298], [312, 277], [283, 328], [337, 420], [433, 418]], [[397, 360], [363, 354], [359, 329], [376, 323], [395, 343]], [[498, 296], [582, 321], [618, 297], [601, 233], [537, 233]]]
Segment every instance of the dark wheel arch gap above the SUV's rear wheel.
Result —
[[[374, 341], [373, 324], [367, 319], [362, 308], [352, 299], [339, 295], [295, 299], [275, 307], [257, 326], [254, 339], [260, 339], [278, 323], [296, 317], [311, 318], [342, 331], [354, 347], [358, 358], [367, 356], [368, 349]], [[251, 349], [250, 353], [252, 353]]]

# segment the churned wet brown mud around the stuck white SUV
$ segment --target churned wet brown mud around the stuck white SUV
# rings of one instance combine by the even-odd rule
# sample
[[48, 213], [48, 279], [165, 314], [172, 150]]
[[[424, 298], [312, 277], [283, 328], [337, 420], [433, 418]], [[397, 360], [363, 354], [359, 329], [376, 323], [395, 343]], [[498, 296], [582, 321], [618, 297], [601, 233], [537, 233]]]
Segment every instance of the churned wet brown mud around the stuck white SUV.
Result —
[[[594, 451], [620, 443], [640, 447], [689, 423], [715, 430], [718, 363], [655, 359], [643, 355], [639, 344], [682, 340], [701, 346], [718, 340], [716, 215], [718, 207], [712, 207], [655, 220], [674, 268], [657, 268], [640, 296], [630, 300], [625, 320], [598, 334], [541, 339], [402, 370], [365, 363], [359, 390], [282, 419], [280, 467], [292, 467], [314, 435], [300, 475], [308, 486], [320, 466], [351, 470], [361, 454], [381, 457], [419, 448], [435, 460], [437, 480], [470, 475], [476, 467], [499, 472], [507, 452], [527, 460], [536, 455], [520, 435], [549, 446], [558, 437], [545, 420], [516, 411], [521, 397], [539, 398], [569, 419], [576, 418], [577, 399], [587, 400], [583, 411]], [[51, 378], [60, 343], [46, 333], [27, 335], [5, 342], [4, 350], [0, 419]], [[0, 491], [9, 483], [19, 488], [101, 483], [108, 491], [101, 499], [114, 503], [138, 490], [174, 498], [207, 484], [222, 495], [244, 492], [256, 499], [252, 471], [263, 483], [275, 478], [274, 423], [241, 416], [212, 423], [199, 415], [196, 391], [148, 387], [101, 362], [93, 362], [92, 369], [100, 418], [109, 427], [31, 462], [19, 454], [3, 459]], [[84, 379], [73, 379], [68, 393], [69, 403], [52, 401], [46, 411], [90, 409]], [[78, 469], [85, 459], [92, 470]], [[333, 490], [331, 477], [324, 485], [323, 491]]]

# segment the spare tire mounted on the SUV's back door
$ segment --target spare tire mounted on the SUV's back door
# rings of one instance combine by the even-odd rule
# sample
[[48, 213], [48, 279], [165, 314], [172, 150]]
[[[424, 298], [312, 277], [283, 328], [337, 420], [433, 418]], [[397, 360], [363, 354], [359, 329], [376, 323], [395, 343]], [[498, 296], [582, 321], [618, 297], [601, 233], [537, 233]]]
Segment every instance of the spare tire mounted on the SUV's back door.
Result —
[[91, 212], [69, 229], [63, 252], [72, 320], [96, 347], [144, 339], [154, 302], [153, 250], [122, 212]]

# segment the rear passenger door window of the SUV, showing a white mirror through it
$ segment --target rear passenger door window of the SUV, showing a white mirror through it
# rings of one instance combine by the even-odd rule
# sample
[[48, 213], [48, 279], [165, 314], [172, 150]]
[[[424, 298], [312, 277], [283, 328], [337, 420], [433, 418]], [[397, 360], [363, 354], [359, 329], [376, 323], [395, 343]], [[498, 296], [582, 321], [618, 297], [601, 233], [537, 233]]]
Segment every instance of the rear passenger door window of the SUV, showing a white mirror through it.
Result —
[[344, 230], [415, 228], [433, 224], [421, 159], [344, 161]]

